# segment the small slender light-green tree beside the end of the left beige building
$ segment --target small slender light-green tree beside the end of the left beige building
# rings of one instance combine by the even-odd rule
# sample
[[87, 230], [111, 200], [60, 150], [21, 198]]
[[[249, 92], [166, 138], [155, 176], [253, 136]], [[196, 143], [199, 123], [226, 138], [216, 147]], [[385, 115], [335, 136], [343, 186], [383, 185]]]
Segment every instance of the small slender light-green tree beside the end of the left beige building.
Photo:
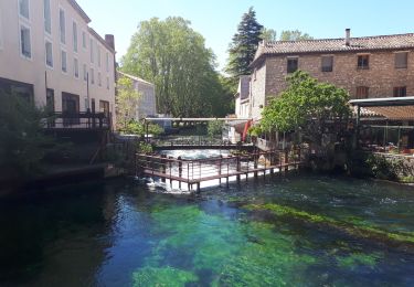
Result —
[[[129, 134], [132, 120], [136, 119], [140, 94], [135, 89], [132, 79], [120, 77], [117, 83], [116, 113], [118, 130]], [[128, 128], [129, 127], [129, 128]]]

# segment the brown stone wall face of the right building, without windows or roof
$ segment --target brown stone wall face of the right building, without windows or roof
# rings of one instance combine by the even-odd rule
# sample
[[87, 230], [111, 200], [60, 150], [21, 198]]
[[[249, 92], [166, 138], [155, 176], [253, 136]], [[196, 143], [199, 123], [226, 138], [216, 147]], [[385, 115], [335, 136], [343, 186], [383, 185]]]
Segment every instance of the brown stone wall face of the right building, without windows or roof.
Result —
[[[368, 53], [369, 70], [357, 68], [358, 55], [367, 53], [299, 55], [298, 68], [308, 72], [320, 82], [329, 82], [346, 88], [351, 98], [355, 98], [358, 86], [368, 86], [370, 98], [392, 97], [393, 88], [397, 86], [406, 86], [406, 95], [414, 95], [414, 51], [408, 53], [406, 68], [395, 68], [395, 52]], [[322, 55], [333, 55], [332, 72], [321, 72]], [[269, 56], [266, 59], [265, 66], [265, 94], [267, 97], [278, 95], [286, 88], [287, 56]], [[258, 77], [257, 73], [256, 81], [262, 82]]]

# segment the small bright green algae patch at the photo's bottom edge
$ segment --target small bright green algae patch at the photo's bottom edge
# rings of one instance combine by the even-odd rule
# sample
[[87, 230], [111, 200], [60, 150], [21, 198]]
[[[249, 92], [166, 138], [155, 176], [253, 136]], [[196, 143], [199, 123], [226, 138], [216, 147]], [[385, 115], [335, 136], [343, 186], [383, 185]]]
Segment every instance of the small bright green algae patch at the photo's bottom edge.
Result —
[[181, 287], [198, 281], [198, 277], [188, 270], [170, 266], [153, 268], [145, 267], [132, 274], [132, 286], [171, 286]]

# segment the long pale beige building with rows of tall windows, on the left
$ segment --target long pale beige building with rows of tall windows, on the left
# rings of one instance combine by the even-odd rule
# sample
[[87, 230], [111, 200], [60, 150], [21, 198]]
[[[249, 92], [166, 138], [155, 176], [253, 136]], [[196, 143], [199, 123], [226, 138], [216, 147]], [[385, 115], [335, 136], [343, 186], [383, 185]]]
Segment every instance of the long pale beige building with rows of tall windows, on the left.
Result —
[[115, 113], [115, 42], [75, 0], [0, 1], [0, 88], [55, 111]]

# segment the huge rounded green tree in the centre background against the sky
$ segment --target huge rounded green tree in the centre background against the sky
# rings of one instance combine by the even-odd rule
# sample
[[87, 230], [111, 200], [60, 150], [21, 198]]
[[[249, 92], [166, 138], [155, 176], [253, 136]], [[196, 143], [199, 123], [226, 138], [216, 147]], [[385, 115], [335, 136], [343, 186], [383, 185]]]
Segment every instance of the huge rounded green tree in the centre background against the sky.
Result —
[[121, 70], [156, 85], [158, 111], [176, 117], [214, 115], [221, 103], [215, 56], [190, 22], [177, 17], [140, 22]]

